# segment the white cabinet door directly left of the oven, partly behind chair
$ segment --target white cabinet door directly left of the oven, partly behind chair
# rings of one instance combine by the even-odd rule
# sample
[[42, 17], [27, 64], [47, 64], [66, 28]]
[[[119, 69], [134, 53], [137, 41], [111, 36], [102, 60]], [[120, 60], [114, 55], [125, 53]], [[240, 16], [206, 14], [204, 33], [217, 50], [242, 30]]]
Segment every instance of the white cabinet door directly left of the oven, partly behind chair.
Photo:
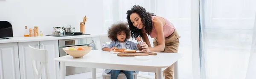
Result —
[[[59, 57], [58, 40], [40, 41], [40, 49], [45, 49], [48, 52], [48, 72], [50, 79], [58, 79], [60, 67], [59, 63], [54, 60]], [[44, 75], [42, 73], [42, 79], [45, 79]]]

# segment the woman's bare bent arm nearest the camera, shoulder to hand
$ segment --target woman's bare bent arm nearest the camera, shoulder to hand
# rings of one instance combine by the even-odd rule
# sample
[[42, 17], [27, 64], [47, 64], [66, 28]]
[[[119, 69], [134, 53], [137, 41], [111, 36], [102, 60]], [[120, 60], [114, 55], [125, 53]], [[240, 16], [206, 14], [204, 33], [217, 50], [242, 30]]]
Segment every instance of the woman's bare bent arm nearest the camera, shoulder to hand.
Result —
[[[163, 25], [165, 25], [165, 20], [161, 17], [155, 17], [154, 20], [152, 20], [155, 30], [157, 31], [157, 42], [158, 45], [154, 48], [150, 48], [150, 44], [146, 43], [149, 47], [145, 49], [148, 52], [161, 52], [164, 51], [165, 43], [164, 43], [164, 34], [163, 34]], [[145, 45], [143, 45], [145, 46]], [[147, 48], [147, 47], [145, 47]]]

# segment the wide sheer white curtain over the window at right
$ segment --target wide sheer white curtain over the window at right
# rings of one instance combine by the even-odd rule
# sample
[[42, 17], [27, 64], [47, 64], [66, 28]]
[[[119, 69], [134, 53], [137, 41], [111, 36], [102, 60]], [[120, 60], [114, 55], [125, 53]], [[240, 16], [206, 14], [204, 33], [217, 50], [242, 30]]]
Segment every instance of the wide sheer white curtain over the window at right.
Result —
[[200, 0], [202, 79], [245, 79], [247, 70], [255, 69], [248, 68], [250, 56], [255, 58], [250, 54], [255, 4], [256, 0]]

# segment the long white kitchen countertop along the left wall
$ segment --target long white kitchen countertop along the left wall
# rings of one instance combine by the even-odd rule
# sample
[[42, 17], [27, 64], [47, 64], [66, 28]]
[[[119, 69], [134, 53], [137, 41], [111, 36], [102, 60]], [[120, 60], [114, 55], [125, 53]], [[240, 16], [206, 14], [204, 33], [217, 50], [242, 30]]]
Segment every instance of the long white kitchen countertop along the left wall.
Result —
[[65, 40], [65, 39], [78, 39], [78, 38], [87, 38], [87, 37], [99, 37], [99, 35], [91, 34], [91, 35], [78, 35], [78, 36], [66, 36], [66, 37], [53, 37], [53, 36], [13, 37], [10, 39], [0, 39], [0, 43]]

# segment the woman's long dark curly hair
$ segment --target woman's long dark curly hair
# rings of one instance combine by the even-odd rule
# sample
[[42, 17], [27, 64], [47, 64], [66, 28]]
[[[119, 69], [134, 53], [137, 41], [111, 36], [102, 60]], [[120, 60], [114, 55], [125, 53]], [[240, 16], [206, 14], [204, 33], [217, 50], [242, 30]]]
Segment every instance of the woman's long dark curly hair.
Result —
[[130, 15], [132, 13], [137, 13], [140, 15], [141, 21], [143, 23], [143, 28], [145, 28], [145, 33], [150, 35], [151, 31], [153, 29], [151, 16], [156, 16], [156, 15], [154, 13], [149, 13], [148, 11], [145, 10], [145, 8], [143, 8], [142, 6], [139, 6], [139, 5], [132, 6], [131, 10], [128, 10], [126, 12], [126, 14], [127, 14], [126, 18], [127, 18], [128, 24], [129, 24], [129, 28], [131, 30], [131, 37], [135, 38], [135, 39], [137, 37], [142, 36], [142, 31], [141, 31], [141, 29], [134, 27], [134, 25], [132, 24], [131, 19], [130, 19]]

